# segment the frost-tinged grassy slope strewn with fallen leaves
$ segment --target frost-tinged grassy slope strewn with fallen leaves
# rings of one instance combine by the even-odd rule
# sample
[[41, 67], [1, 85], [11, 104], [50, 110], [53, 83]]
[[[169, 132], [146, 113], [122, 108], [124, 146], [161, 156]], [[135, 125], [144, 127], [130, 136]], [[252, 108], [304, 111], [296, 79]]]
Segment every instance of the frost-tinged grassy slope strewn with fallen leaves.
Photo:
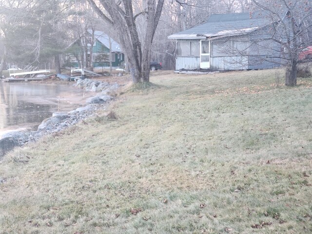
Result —
[[117, 120], [15, 151], [0, 233], [311, 233], [312, 79], [274, 73], [154, 75]]

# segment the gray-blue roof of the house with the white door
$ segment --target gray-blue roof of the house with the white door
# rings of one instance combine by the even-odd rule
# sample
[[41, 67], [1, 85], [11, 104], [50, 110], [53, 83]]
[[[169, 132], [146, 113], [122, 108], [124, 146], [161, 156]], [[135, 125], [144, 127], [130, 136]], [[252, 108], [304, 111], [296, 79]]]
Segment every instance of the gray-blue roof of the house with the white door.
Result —
[[206, 39], [223, 35], [240, 35], [269, 25], [265, 12], [245, 12], [211, 15], [207, 22], [170, 35], [168, 39]]

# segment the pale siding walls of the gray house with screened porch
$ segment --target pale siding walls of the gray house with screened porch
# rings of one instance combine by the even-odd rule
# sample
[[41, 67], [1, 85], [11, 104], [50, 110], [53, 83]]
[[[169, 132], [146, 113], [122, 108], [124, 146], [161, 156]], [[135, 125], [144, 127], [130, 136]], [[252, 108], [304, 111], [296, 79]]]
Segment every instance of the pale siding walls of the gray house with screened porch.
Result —
[[[280, 44], [270, 39], [271, 37], [272, 29], [268, 26], [245, 36], [211, 40], [210, 69], [245, 70], [279, 67], [283, 60], [282, 48]], [[177, 56], [176, 70], [180, 69], [199, 70], [199, 56]]]

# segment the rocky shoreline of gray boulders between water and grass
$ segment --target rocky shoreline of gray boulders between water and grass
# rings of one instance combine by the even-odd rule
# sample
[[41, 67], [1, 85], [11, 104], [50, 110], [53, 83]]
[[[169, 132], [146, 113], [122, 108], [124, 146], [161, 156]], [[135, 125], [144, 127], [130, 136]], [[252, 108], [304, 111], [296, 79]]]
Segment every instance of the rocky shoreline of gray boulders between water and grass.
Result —
[[37, 141], [40, 137], [59, 132], [72, 126], [82, 119], [91, 117], [96, 110], [105, 109], [113, 99], [110, 95], [119, 88], [117, 83], [110, 84], [92, 79], [79, 79], [76, 87], [87, 91], [97, 92], [97, 95], [86, 100], [86, 106], [79, 107], [68, 113], [53, 113], [52, 117], [44, 119], [37, 131], [11, 131], [0, 139], [0, 158], [15, 147], [21, 147], [29, 142]]

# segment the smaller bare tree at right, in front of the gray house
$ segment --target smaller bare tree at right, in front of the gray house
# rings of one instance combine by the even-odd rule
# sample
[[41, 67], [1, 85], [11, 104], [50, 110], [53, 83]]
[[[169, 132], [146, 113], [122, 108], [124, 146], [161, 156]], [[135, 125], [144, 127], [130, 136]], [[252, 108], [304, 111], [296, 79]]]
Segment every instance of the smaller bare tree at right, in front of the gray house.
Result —
[[272, 21], [271, 37], [279, 45], [279, 60], [286, 65], [285, 84], [297, 83], [297, 65], [303, 47], [312, 44], [311, 0], [253, 0], [256, 8], [267, 12]]

